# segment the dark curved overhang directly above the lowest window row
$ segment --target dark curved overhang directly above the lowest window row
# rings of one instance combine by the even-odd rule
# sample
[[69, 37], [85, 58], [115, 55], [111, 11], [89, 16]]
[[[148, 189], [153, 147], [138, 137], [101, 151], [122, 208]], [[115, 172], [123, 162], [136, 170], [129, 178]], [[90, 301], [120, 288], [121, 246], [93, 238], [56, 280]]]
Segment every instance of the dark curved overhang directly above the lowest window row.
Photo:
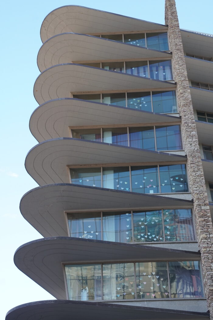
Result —
[[14, 255], [16, 267], [57, 299], [66, 299], [62, 263], [147, 260], [200, 260], [200, 254], [147, 245], [52, 237], [23, 244]]

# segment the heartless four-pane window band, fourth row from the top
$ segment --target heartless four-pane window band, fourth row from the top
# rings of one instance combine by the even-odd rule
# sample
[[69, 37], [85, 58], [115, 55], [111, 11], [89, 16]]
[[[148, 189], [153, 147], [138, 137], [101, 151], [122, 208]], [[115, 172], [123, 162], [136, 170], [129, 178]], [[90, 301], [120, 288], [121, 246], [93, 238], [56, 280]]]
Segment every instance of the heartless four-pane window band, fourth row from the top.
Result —
[[180, 125], [72, 129], [72, 137], [156, 151], [182, 149]]

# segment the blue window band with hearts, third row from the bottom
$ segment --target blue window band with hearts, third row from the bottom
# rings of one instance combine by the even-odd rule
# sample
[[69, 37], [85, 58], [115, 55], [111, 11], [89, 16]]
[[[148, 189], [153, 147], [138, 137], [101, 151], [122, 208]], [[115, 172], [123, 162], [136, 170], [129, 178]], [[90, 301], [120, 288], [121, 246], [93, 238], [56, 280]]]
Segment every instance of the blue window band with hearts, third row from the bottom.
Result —
[[188, 192], [185, 164], [70, 168], [70, 175], [71, 183], [84, 186], [138, 193]]

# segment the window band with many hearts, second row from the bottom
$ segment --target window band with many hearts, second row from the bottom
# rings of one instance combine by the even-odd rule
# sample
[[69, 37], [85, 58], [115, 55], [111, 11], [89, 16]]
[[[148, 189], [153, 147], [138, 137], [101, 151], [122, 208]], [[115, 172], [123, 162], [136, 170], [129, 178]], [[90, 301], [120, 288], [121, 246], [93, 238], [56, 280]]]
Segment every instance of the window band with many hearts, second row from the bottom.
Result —
[[71, 237], [122, 243], [194, 241], [191, 209], [68, 213]]

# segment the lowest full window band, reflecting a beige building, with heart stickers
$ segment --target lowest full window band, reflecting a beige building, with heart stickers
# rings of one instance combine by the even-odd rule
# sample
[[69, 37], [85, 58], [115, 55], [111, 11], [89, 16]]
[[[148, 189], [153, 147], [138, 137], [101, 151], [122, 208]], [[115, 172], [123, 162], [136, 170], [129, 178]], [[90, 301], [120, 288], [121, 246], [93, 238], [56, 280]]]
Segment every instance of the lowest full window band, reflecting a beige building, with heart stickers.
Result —
[[65, 265], [70, 300], [202, 298], [199, 261]]

